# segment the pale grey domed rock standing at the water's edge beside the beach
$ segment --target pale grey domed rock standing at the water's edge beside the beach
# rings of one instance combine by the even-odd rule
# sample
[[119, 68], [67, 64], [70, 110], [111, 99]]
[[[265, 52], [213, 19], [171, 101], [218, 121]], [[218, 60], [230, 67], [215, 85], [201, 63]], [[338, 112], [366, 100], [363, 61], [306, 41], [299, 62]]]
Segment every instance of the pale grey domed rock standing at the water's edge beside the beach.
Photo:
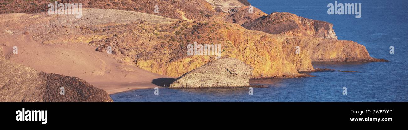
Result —
[[249, 86], [252, 70], [235, 58], [221, 58], [183, 74], [170, 88]]

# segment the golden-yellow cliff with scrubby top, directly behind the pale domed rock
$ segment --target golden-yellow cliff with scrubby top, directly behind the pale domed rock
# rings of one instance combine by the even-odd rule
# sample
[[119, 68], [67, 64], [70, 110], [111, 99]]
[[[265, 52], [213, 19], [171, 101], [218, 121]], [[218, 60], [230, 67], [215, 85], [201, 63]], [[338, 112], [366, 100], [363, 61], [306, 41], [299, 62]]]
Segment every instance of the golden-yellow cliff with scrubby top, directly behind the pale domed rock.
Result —
[[[158, 74], [180, 76], [215, 60], [215, 56], [188, 56], [186, 46], [197, 42], [222, 45], [222, 57], [237, 58], [253, 67], [253, 78], [296, 77], [303, 76], [297, 70], [314, 70], [306, 52], [295, 54], [295, 42], [286, 40], [290, 37], [250, 31], [226, 22], [180, 24], [190, 27], [181, 31], [179, 35], [172, 33], [159, 35], [169, 35], [169, 38], [174, 39], [167, 41], [166, 44], [170, 46], [155, 45], [159, 50], [163, 46], [166, 52], [160, 53], [157, 49], [146, 50], [135, 57], [135, 64]], [[184, 42], [182, 39], [188, 39], [190, 42]]]

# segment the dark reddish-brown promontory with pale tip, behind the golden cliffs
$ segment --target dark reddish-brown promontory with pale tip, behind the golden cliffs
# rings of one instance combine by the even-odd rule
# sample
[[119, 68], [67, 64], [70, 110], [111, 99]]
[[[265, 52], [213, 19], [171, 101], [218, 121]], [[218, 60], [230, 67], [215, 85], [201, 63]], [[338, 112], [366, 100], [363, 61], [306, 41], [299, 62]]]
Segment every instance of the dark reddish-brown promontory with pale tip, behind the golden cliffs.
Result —
[[274, 12], [242, 24], [250, 30], [264, 31], [269, 34], [288, 36], [310, 36], [314, 38], [337, 39], [333, 24], [310, 20], [292, 13]]

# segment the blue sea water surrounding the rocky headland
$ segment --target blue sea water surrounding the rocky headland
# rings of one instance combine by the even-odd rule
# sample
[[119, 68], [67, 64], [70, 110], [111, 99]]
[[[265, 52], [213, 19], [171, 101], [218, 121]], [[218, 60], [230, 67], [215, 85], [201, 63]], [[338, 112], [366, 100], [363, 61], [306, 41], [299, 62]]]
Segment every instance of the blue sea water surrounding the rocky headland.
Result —
[[[113, 101], [130, 102], [407, 102], [408, 101], [408, 0], [337, 0], [361, 3], [361, 18], [328, 15], [327, 4], [334, 0], [248, 0], [266, 13], [290, 12], [314, 20], [331, 22], [340, 40], [366, 46], [372, 57], [390, 62], [313, 63], [314, 67], [358, 72], [312, 72], [315, 77], [251, 80], [251, 85], [234, 89], [153, 89], [111, 94]], [[390, 54], [390, 46], [395, 54]], [[347, 87], [347, 95], [343, 94]]]

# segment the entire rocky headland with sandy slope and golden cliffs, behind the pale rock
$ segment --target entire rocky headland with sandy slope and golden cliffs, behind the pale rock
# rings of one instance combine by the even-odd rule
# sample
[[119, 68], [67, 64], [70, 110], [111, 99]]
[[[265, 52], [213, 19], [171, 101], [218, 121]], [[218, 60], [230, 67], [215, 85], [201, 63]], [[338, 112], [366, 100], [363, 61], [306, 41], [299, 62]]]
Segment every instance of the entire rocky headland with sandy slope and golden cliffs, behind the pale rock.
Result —
[[[133, 89], [155, 87], [149, 81], [179, 77], [216, 60], [215, 56], [187, 55], [187, 45], [193, 42], [221, 45], [222, 58], [235, 58], [253, 68], [250, 78], [307, 76], [299, 72], [316, 71], [312, 62], [386, 61], [371, 57], [363, 45], [337, 40], [331, 23], [284, 12], [268, 15], [256, 7], [248, 13], [246, 0], [60, 2], [82, 3], [86, 8], [82, 18], [48, 15], [48, 0], [14, 0], [0, 5], [0, 42], [7, 48], [7, 60], [117, 87], [140, 82]], [[160, 7], [159, 13], [154, 12], [155, 5]], [[36, 44], [21, 44], [16, 39]], [[74, 67], [62, 71], [50, 69], [54, 65], [45, 60], [24, 60], [44, 58], [32, 49], [9, 55], [15, 45], [58, 48], [41, 53], [53, 57], [55, 63]], [[112, 54], [106, 54], [108, 47]], [[106, 83], [94, 86], [110, 94], [132, 90], [111, 91]]]

